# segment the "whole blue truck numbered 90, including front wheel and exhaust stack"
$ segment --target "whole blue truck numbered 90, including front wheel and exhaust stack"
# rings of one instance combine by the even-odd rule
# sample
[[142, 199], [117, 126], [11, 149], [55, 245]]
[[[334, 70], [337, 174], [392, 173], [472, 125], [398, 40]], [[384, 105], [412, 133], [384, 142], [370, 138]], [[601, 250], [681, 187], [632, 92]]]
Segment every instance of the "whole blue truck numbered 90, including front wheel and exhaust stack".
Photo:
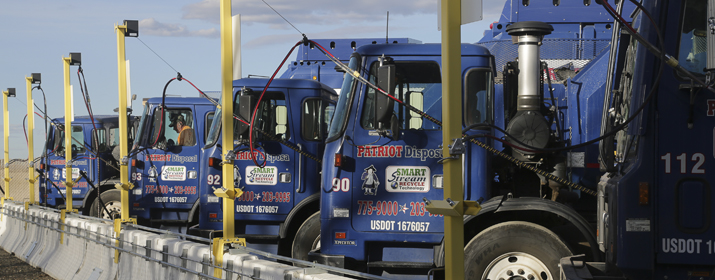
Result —
[[[593, 34], [603, 33], [609, 20], [592, 24]], [[540, 45], [551, 34], [571, 36], [557, 32], [563, 26], [494, 26], [503, 29], [502, 40], [514, 38], [519, 59], [495, 69], [485, 46], [462, 44], [462, 103], [454, 106], [470, 135], [461, 155], [463, 199], [486, 201], [478, 215], [465, 216], [465, 275], [555, 279], [564, 256], [601, 259], [593, 207], [582, 207], [596, 203], [597, 144], [570, 151], [600, 128], [602, 103], [589, 102], [602, 101], [596, 89], [604, 78], [585, 75], [605, 71], [608, 44], [595, 51], [594, 38], [572, 40], [573, 52], [552, 57], [566, 60], [552, 67], [549, 55], [559, 52]], [[578, 48], [584, 43], [590, 47]], [[438, 44], [370, 45], [353, 54], [350, 71], [396, 101], [346, 77], [326, 139], [320, 248], [310, 260], [385, 275], [424, 276], [444, 267], [443, 218], [426, 210], [429, 201], [443, 199], [440, 162], [450, 155], [442, 146], [454, 145], [440, 131], [440, 54]], [[580, 59], [589, 63], [574, 66]], [[561, 70], [572, 73], [556, 83], [552, 73]], [[597, 110], [586, 115], [586, 108]]]

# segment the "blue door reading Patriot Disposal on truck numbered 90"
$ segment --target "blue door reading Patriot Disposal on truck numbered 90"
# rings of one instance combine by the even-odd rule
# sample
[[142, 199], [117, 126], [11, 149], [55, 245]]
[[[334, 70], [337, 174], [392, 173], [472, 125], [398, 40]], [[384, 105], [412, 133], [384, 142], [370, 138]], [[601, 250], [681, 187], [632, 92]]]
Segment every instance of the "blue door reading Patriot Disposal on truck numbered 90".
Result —
[[[441, 120], [439, 62], [419, 60], [395, 58], [394, 95]], [[368, 79], [373, 83], [379, 64], [367, 61]], [[354, 142], [349, 147], [356, 157], [353, 182], [333, 182], [333, 191], [347, 191], [344, 185], [352, 185], [352, 209], [357, 211], [352, 215], [353, 228], [394, 233], [443, 231], [443, 219], [427, 212], [423, 200], [438, 200], [443, 195], [442, 165], [438, 163], [442, 158], [440, 127], [397, 102], [388, 122], [376, 122], [375, 90], [368, 87], [363, 97], [359, 122], [348, 139]], [[390, 127], [399, 128], [389, 132], [393, 136], [384, 132]]]

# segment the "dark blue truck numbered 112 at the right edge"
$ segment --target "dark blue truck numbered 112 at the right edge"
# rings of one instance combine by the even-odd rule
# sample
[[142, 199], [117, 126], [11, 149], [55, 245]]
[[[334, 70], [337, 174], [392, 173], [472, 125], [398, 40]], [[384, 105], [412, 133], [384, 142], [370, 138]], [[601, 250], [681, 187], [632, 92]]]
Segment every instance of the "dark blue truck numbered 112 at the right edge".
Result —
[[561, 279], [715, 277], [715, 2], [643, 6], [621, 13], [632, 29], [613, 30], [596, 208], [605, 259], [564, 258]]

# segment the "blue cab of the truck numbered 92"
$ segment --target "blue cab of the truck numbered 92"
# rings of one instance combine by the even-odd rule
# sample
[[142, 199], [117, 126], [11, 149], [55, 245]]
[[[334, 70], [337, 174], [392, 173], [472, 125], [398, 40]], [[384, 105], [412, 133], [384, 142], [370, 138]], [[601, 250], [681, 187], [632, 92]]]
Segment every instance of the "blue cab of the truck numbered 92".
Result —
[[[250, 121], [267, 83], [263, 78], [235, 80], [234, 115]], [[234, 185], [243, 189], [236, 198], [235, 232], [236, 237], [246, 238], [249, 247], [301, 258], [316, 241], [320, 160], [336, 100], [328, 85], [274, 79], [258, 104], [253, 150], [249, 127], [234, 120]], [[216, 121], [201, 164], [199, 179], [207, 188], [201, 189], [198, 228], [204, 236], [220, 236], [223, 227], [223, 198], [214, 195], [223, 184], [220, 134], [221, 122]]]

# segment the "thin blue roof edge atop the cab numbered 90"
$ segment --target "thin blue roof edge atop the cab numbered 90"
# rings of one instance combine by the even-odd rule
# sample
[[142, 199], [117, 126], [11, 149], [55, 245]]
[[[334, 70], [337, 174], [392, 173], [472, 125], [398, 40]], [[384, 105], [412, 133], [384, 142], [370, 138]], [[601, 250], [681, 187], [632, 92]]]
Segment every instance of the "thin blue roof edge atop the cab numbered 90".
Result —
[[[463, 56], [489, 56], [487, 48], [462, 44]], [[375, 44], [364, 45], [358, 48], [358, 52], [363, 55], [441, 55], [442, 44]]]

